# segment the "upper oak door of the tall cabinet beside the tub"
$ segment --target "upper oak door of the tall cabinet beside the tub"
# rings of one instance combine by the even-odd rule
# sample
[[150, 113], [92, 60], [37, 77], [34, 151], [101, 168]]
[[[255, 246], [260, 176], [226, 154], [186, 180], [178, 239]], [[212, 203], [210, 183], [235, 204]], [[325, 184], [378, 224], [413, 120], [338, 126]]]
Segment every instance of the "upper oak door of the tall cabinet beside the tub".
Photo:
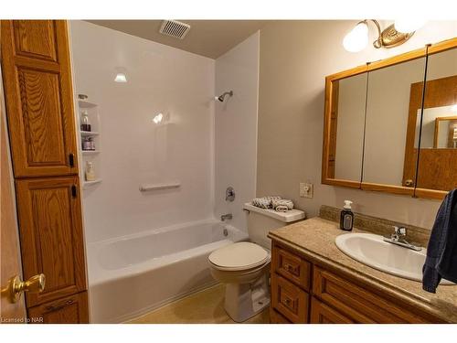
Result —
[[61, 20], [2, 20], [15, 177], [78, 174], [68, 33]]

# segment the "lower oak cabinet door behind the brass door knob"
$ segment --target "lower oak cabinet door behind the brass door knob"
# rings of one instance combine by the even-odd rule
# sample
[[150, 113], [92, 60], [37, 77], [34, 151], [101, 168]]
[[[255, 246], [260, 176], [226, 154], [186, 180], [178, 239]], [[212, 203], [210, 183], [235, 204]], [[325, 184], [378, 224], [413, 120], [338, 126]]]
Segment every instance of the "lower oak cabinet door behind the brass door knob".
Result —
[[46, 276], [27, 307], [86, 290], [79, 197], [78, 177], [16, 180], [24, 279]]

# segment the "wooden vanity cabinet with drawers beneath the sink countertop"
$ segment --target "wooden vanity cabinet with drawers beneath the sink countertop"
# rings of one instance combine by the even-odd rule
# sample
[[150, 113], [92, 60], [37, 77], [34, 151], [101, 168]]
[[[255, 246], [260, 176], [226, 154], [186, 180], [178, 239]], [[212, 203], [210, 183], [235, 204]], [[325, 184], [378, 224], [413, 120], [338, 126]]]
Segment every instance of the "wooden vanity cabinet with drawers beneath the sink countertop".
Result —
[[441, 322], [273, 241], [271, 322], [282, 323], [283, 318], [314, 324]]

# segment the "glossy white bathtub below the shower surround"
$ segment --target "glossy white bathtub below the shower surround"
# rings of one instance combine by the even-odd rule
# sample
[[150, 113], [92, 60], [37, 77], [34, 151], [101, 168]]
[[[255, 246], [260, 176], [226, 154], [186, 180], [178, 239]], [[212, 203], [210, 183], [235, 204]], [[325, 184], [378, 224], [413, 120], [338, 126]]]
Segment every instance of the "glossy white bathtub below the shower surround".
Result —
[[209, 253], [247, 239], [241, 230], [204, 220], [89, 243], [90, 321], [120, 323], [215, 284]]

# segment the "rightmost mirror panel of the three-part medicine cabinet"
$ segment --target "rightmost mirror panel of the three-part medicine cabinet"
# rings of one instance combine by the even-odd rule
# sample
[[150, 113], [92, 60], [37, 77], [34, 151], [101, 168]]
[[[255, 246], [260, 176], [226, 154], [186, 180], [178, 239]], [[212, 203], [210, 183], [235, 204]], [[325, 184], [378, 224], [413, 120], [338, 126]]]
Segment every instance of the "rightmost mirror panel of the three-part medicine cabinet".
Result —
[[457, 188], [457, 48], [430, 53], [416, 193]]

